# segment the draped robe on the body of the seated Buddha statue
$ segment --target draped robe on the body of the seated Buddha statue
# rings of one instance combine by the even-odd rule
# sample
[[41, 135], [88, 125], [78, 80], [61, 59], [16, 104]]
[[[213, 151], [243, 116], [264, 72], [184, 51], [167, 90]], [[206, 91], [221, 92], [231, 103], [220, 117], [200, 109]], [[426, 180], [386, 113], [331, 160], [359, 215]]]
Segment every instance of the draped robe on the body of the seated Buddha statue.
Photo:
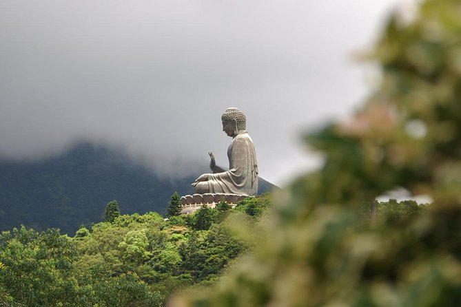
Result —
[[[252, 138], [247, 132], [238, 134], [227, 149], [229, 170], [210, 174], [209, 193], [258, 193], [258, 162]], [[204, 182], [204, 183], [205, 183]]]

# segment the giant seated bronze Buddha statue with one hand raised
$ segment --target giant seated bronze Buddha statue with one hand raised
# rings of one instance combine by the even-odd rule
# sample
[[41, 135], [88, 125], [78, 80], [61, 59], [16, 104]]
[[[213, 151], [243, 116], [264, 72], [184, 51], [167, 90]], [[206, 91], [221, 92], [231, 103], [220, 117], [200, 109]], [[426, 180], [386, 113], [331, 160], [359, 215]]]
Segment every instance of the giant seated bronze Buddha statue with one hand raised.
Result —
[[198, 194], [233, 193], [256, 195], [258, 192], [258, 162], [252, 138], [247, 132], [247, 118], [236, 107], [229, 107], [221, 116], [223, 131], [232, 138], [227, 148], [229, 169], [216, 165], [212, 151], [209, 163], [213, 173], [204, 173], [192, 186]]

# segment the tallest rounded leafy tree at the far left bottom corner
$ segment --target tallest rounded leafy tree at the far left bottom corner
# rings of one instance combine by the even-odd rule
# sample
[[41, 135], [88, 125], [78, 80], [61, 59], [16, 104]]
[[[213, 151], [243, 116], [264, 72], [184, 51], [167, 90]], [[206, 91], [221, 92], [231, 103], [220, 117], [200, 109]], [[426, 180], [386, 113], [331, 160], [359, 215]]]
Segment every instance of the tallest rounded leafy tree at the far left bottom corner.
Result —
[[[72, 276], [77, 251], [57, 229], [14, 229], [0, 235], [0, 289], [24, 306], [88, 306]], [[1, 302], [1, 298], [0, 298]]]

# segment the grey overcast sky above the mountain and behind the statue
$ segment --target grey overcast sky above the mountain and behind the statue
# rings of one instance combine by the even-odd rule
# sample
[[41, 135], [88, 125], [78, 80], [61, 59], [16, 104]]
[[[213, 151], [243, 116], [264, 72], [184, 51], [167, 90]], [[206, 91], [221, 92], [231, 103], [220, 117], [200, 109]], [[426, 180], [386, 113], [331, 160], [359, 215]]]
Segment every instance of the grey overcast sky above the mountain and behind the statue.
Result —
[[351, 54], [402, 1], [0, 0], [0, 156], [91, 140], [198, 176], [209, 150], [227, 165], [238, 107], [260, 176], [283, 185], [318, 163], [303, 131], [362, 103]]

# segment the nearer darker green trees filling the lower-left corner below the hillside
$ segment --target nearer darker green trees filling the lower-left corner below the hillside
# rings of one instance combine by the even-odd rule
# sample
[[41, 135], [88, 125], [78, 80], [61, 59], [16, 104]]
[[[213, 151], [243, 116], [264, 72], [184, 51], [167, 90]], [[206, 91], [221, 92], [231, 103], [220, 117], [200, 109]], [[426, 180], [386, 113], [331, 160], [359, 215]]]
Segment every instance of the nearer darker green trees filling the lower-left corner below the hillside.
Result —
[[81, 270], [78, 244], [56, 229], [0, 235], [0, 302], [6, 306], [161, 306], [162, 297], [133, 273]]

